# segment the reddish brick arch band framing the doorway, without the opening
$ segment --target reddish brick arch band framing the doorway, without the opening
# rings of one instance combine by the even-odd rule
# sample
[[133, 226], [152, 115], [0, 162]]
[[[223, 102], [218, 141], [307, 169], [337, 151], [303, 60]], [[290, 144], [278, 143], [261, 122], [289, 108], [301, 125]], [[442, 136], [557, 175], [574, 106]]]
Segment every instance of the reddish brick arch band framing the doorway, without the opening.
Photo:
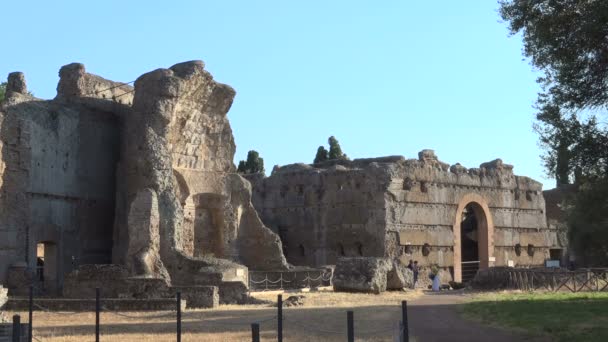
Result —
[[479, 251], [479, 268], [485, 269], [490, 267], [490, 258], [494, 256], [494, 221], [488, 203], [481, 195], [469, 193], [460, 199], [458, 208], [456, 209], [456, 217], [454, 218], [454, 280], [462, 281], [462, 250], [460, 223], [464, 209], [468, 206], [473, 209], [477, 218], [478, 229], [478, 251]]

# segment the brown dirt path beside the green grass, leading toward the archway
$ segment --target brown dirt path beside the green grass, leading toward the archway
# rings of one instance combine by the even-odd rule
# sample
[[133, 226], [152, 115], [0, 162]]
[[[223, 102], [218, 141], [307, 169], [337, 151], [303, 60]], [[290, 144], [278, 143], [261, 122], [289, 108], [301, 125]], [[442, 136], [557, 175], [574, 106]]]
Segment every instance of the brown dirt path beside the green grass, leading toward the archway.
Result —
[[414, 336], [416, 342], [538, 341], [463, 319], [457, 305], [468, 299], [469, 296], [462, 292], [429, 292], [409, 301], [410, 336]]

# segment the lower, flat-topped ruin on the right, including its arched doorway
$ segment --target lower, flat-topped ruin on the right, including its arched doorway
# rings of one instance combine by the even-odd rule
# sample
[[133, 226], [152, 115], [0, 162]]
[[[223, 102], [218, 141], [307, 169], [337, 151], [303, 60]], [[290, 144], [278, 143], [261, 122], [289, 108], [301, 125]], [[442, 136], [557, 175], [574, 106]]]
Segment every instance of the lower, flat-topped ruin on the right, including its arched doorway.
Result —
[[417, 260], [420, 280], [437, 265], [447, 283], [478, 268], [543, 265], [561, 249], [547, 227], [542, 185], [500, 159], [467, 169], [423, 150], [417, 159], [293, 164], [249, 179], [262, 221], [293, 265]]

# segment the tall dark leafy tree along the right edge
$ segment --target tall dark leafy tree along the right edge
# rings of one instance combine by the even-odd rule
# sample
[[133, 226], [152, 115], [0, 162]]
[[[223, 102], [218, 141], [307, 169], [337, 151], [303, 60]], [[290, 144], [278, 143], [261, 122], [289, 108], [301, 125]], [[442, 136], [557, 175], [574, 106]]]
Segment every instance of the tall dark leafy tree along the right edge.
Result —
[[500, 14], [543, 73], [535, 130], [547, 173], [578, 188], [565, 207], [585, 263], [608, 263], [608, 1], [501, 0]]

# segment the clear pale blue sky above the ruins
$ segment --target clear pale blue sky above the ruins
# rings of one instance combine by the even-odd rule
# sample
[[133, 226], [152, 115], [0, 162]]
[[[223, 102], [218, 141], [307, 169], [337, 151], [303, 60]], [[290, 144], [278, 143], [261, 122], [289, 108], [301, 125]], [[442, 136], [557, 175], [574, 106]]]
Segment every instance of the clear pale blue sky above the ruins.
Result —
[[[553, 187], [532, 130], [538, 86], [493, 0], [9, 1], [0, 74], [52, 98], [59, 67], [117, 81], [202, 59], [234, 87], [237, 154], [312, 162], [335, 135], [351, 158], [435, 149], [502, 158]], [[4, 77], [4, 76], [3, 76]]]

